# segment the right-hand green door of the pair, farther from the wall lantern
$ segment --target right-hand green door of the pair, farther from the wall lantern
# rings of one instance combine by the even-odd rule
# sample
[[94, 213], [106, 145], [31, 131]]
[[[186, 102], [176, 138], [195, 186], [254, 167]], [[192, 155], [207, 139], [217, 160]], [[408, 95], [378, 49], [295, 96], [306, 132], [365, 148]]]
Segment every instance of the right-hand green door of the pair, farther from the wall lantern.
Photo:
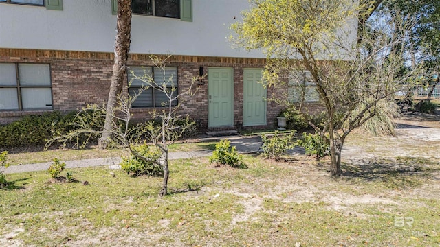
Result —
[[266, 125], [266, 89], [262, 69], [243, 70], [243, 126]]

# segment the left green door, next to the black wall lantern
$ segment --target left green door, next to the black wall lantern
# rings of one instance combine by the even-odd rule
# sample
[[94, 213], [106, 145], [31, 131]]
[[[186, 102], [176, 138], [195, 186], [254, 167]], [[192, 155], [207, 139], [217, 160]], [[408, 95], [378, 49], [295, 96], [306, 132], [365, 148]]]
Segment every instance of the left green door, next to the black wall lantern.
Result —
[[208, 126], [234, 125], [232, 68], [208, 68]]

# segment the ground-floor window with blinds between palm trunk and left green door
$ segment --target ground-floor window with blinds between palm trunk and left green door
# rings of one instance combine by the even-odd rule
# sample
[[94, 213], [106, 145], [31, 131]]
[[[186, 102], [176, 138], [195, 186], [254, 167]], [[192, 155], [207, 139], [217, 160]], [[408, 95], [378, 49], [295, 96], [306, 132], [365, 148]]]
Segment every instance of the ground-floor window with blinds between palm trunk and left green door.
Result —
[[[146, 82], [135, 79], [132, 74], [134, 73], [138, 78], [145, 78], [148, 75], [151, 76], [152, 72], [155, 86], [148, 86]], [[168, 106], [168, 97], [157, 89], [157, 85], [165, 84], [168, 94], [172, 93], [173, 97], [177, 96], [177, 67], [166, 67], [164, 70], [158, 67], [130, 67], [128, 74], [129, 95], [133, 96], [139, 93], [142, 86], [148, 87], [137, 96], [132, 104], [133, 107]], [[177, 100], [172, 104], [177, 106]]]

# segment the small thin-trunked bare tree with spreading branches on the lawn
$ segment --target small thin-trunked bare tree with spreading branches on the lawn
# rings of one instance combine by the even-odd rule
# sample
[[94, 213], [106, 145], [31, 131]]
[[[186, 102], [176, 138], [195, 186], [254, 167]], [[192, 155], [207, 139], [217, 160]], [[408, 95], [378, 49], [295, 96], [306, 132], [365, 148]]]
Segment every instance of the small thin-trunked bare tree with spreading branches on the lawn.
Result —
[[[169, 56], [168, 56], [169, 58]], [[159, 192], [159, 196], [165, 196], [168, 188], [168, 151], [169, 145], [177, 139], [179, 139], [188, 128], [191, 128], [195, 122], [190, 121], [188, 115], [179, 115], [179, 106], [184, 100], [185, 95], [192, 95], [195, 93], [195, 89], [192, 89], [194, 83], [198, 78], [192, 78], [188, 89], [177, 92], [177, 85], [173, 84], [173, 78], [167, 78], [165, 73], [165, 60], [156, 56], [151, 56], [151, 60], [159, 72], [156, 72], [155, 78], [161, 78], [159, 81], [154, 80], [151, 73], [144, 73], [144, 75], [136, 75], [131, 72], [132, 80], [140, 80], [143, 82], [139, 91], [133, 95], [122, 94], [118, 95], [118, 103], [113, 108], [102, 108], [97, 105], [88, 106], [78, 113], [76, 117], [76, 124], [79, 126], [76, 130], [63, 134], [58, 137], [54, 137], [48, 143], [51, 145], [54, 141], [61, 141], [66, 143], [67, 141], [76, 140], [78, 136], [83, 134], [96, 135], [102, 134], [103, 130], [96, 130], [91, 122], [90, 117], [82, 117], [83, 112], [91, 112], [95, 118], [111, 116], [113, 119], [113, 126], [116, 128], [107, 129], [109, 132], [109, 139], [107, 143], [116, 148], [124, 148], [128, 150], [133, 156], [140, 158], [146, 163], [154, 163], [155, 165], [162, 167], [164, 180], [162, 183], [162, 189]], [[159, 73], [159, 75], [157, 75]], [[129, 82], [131, 84], [131, 82]], [[133, 102], [146, 90], [154, 88], [156, 91], [160, 91], [162, 95], [166, 97], [166, 101], [162, 102], [161, 110], [153, 110], [150, 113], [151, 120], [146, 123], [137, 124], [137, 126], [131, 127], [131, 109]], [[176, 104], [176, 103], [179, 104]], [[159, 120], [159, 125], [155, 124], [154, 120]], [[152, 159], [150, 156], [144, 155], [135, 148], [137, 145], [142, 145], [144, 141], [149, 141], [157, 148], [159, 152], [158, 159]]]

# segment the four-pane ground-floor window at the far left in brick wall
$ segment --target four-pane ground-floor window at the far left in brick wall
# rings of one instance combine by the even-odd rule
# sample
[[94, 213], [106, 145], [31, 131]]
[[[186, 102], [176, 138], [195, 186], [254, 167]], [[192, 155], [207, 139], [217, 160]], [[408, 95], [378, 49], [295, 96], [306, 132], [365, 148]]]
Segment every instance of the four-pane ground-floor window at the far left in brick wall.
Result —
[[49, 64], [0, 63], [0, 110], [52, 109]]

